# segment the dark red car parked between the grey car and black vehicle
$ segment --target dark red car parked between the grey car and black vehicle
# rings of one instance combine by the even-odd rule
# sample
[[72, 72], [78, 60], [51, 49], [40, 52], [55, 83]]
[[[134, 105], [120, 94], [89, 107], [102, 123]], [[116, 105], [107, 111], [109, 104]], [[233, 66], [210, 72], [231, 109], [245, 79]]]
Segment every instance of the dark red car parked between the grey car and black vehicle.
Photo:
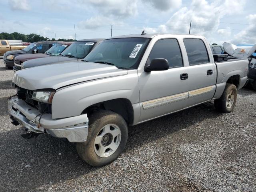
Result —
[[51, 56], [58, 56], [60, 55], [68, 46], [70, 46], [73, 42], [58, 42], [56, 44], [52, 44], [53, 46], [48, 49], [45, 53], [38, 53], [38, 54], [22, 54], [16, 56], [14, 59], [14, 72], [21, 69], [22, 63], [24, 61], [36, 59], [36, 58], [46, 58]]

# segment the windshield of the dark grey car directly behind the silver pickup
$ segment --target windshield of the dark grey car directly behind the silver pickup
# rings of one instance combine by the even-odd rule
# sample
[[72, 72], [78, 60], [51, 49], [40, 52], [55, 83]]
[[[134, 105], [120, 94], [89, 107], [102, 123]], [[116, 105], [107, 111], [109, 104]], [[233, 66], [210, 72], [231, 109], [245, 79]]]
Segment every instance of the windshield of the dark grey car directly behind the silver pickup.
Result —
[[84, 58], [92, 49], [95, 42], [76, 41], [72, 43], [61, 55], [72, 58]]

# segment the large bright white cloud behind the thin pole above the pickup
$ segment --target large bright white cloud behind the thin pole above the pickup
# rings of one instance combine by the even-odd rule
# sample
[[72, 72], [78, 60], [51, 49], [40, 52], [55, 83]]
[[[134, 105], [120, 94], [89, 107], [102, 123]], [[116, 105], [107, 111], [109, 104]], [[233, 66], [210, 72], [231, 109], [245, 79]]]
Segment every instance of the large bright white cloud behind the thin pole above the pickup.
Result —
[[[234, 11], [240, 10], [241, 12], [243, 2], [244, 0], [225, 0], [224, 2], [215, 0], [209, 3], [206, 0], [193, 0], [189, 8], [180, 8], [165, 24], [154, 30], [160, 33], [188, 34], [190, 20], [192, 20], [191, 34], [212, 36], [212, 32], [218, 31], [220, 19], [225, 15], [237, 14]], [[224, 33], [224, 30], [218, 31], [218, 33], [221, 32]]]

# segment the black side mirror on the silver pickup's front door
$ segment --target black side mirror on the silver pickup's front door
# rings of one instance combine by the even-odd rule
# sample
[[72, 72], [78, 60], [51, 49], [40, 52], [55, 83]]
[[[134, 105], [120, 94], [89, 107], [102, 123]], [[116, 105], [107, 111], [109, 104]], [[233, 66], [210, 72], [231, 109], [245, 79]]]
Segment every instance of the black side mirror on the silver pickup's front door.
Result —
[[145, 66], [144, 71], [164, 71], [169, 69], [169, 62], [167, 59], [157, 58], [150, 62], [150, 65]]

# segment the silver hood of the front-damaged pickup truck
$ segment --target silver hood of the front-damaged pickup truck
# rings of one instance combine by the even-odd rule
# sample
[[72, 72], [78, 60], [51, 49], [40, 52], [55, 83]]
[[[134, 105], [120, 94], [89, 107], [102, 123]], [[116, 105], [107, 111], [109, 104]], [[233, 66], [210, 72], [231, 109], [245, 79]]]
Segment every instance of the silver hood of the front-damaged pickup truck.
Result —
[[128, 70], [115, 66], [75, 61], [19, 70], [14, 74], [12, 81], [28, 90], [56, 90], [71, 84], [126, 74]]

